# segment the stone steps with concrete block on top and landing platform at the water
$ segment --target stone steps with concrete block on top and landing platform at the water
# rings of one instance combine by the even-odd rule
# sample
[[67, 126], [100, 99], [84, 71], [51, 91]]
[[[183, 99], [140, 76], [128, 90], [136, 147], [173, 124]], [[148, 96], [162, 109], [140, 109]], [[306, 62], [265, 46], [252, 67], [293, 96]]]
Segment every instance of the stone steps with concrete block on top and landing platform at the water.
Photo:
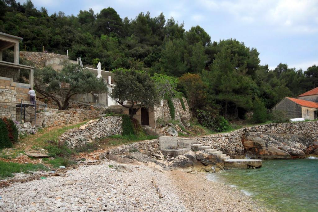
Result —
[[[261, 160], [254, 159], [231, 159], [227, 154], [213, 148], [199, 144], [196, 139], [176, 138], [169, 136], [159, 137], [159, 147], [163, 155], [177, 156], [187, 153], [190, 149], [194, 152], [205, 151], [220, 158], [225, 165], [225, 168], [259, 168], [262, 166]], [[176, 140], [176, 141], [175, 141]]]

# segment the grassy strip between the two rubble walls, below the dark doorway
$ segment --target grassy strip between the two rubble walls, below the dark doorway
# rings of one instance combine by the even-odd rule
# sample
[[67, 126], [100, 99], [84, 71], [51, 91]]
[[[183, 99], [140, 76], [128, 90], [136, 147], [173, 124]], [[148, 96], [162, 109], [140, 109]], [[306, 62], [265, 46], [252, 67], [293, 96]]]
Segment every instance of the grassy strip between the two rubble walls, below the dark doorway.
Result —
[[141, 140], [156, 139], [156, 135], [112, 135], [100, 140], [100, 144], [105, 143], [106, 146], [118, 146], [122, 144], [133, 143]]

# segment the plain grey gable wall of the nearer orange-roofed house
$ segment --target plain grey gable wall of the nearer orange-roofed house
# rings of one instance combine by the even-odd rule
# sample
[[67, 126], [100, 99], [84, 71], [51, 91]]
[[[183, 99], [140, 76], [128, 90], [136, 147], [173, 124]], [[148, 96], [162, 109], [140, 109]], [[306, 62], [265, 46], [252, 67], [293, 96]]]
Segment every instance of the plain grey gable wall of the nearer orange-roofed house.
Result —
[[286, 98], [274, 106], [272, 110], [286, 111], [289, 119], [302, 117], [301, 106]]

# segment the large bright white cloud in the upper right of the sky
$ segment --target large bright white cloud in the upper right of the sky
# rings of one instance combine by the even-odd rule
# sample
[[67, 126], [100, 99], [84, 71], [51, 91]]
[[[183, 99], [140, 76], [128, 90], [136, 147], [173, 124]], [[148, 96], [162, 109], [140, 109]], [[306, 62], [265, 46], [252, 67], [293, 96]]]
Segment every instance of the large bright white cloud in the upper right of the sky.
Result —
[[318, 31], [317, 0], [200, 0], [210, 11], [222, 11], [242, 24], [258, 23], [273, 30], [297, 33]]

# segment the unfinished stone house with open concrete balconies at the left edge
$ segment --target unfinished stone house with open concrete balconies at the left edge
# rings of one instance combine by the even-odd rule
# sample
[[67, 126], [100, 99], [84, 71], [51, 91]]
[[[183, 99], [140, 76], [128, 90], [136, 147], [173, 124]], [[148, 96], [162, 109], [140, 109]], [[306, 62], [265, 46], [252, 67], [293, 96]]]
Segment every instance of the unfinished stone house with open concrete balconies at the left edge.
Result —
[[[19, 42], [22, 38], [0, 32], [0, 117], [16, 120], [16, 105], [31, 104], [29, 87], [33, 88], [34, 67], [19, 64]], [[13, 61], [3, 61], [3, 51], [14, 50]], [[20, 70], [29, 71], [29, 83], [20, 83]]]

